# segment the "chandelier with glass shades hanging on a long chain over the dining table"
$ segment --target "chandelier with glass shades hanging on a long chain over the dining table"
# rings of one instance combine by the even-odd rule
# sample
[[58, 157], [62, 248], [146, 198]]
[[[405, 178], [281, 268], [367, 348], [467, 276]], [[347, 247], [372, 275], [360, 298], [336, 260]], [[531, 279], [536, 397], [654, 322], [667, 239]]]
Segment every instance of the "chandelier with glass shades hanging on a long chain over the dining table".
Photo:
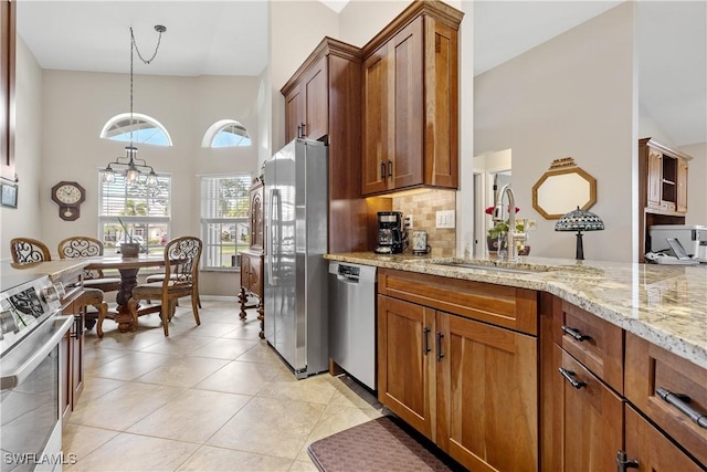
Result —
[[157, 187], [157, 174], [155, 174], [155, 169], [152, 168], [152, 166], [148, 166], [145, 159], [137, 158], [137, 147], [133, 143], [133, 132], [135, 129], [135, 122], [133, 118], [133, 51], [137, 52], [137, 55], [140, 61], [143, 61], [143, 63], [150, 64], [155, 56], [157, 56], [157, 51], [159, 50], [162, 33], [167, 31], [167, 28], [158, 24], [155, 27], [155, 31], [159, 33], [155, 53], [152, 53], [152, 56], [150, 59], [145, 60], [140, 54], [140, 50], [138, 50], [137, 48], [137, 44], [135, 42], [135, 34], [133, 34], [133, 28], [130, 28], [130, 145], [125, 147], [125, 157], [116, 157], [115, 160], [113, 162], [109, 162], [108, 166], [104, 169], [103, 181], [105, 182], [114, 181], [116, 172], [125, 172], [125, 181], [128, 185], [135, 185], [138, 182], [141, 174], [147, 174], [147, 178], [145, 180], [147, 187]]

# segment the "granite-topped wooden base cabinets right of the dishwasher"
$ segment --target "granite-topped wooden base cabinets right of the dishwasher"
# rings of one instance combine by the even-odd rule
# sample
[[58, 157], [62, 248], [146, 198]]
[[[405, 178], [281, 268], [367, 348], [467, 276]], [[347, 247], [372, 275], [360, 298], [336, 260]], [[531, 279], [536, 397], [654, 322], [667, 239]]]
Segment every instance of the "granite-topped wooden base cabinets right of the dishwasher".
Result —
[[707, 268], [325, 258], [378, 268], [378, 399], [466, 469], [705, 470]]

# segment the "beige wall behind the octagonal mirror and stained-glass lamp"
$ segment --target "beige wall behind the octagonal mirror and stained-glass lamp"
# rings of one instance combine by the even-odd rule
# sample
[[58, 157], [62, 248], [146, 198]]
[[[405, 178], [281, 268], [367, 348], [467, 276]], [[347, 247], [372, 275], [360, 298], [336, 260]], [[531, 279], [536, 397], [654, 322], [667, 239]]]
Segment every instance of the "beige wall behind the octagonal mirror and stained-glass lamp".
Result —
[[532, 255], [574, 254], [574, 235], [555, 232], [556, 220], [531, 207], [534, 183], [561, 157], [598, 181], [591, 211], [606, 229], [584, 237], [585, 258], [631, 261], [635, 253], [633, 15], [631, 3], [621, 4], [475, 78], [475, 154], [513, 150], [520, 216], [538, 223]]

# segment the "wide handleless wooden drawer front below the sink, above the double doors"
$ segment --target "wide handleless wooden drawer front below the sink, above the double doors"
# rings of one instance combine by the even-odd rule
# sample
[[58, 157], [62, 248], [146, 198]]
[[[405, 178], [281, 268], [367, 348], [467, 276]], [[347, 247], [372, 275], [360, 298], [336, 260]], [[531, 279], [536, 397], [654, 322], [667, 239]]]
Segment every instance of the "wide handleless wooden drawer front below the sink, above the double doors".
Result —
[[378, 293], [538, 334], [538, 295], [534, 290], [379, 269]]

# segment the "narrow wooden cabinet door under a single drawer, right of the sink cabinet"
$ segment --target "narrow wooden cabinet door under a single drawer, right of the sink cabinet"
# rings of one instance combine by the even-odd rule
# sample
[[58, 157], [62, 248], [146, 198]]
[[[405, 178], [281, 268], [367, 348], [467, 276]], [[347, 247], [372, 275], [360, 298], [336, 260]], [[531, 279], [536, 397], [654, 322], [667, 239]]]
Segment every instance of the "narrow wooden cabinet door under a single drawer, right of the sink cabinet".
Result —
[[616, 470], [616, 451], [623, 445], [623, 400], [564, 350], [561, 359], [567, 376], [558, 406], [564, 438], [562, 470]]

